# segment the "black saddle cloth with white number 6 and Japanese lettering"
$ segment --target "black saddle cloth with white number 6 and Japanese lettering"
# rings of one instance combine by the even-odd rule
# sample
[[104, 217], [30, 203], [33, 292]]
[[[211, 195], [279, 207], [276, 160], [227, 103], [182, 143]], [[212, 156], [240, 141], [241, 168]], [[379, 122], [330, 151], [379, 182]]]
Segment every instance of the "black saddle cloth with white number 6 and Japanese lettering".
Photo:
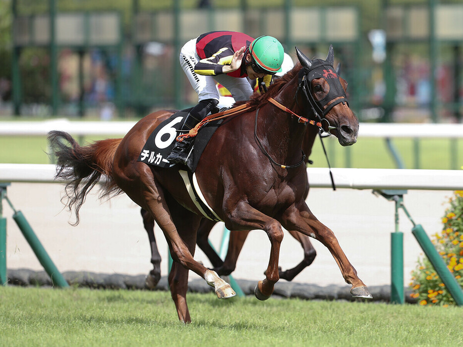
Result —
[[[167, 160], [167, 157], [175, 146], [175, 139], [179, 135], [179, 130], [190, 110], [191, 108], [187, 108], [178, 111], [156, 127], [143, 146], [137, 161], [158, 167], [171, 167], [176, 165], [171, 164]], [[222, 119], [211, 121], [199, 129], [198, 134], [195, 136], [195, 140], [188, 149], [189, 157], [187, 166], [191, 172], [196, 170], [203, 150], [206, 148], [207, 143], [221, 123]]]

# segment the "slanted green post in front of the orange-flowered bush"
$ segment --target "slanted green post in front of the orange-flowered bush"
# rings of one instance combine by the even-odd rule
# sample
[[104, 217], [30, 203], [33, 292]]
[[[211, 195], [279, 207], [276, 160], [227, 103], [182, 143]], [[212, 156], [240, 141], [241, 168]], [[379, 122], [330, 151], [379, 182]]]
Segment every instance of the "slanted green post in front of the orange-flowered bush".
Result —
[[437, 252], [436, 248], [434, 248], [434, 245], [431, 240], [429, 240], [429, 237], [426, 235], [423, 227], [420, 224], [417, 224], [411, 229], [411, 233], [418, 241], [432, 266], [434, 266], [434, 269], [441, 278], [442, 282], [444, 282], [445, 287], [449, 290], [450, 295], [454, 298], [457, 305], [463, 306], [462, 287], [460, 287], [444, 260]]

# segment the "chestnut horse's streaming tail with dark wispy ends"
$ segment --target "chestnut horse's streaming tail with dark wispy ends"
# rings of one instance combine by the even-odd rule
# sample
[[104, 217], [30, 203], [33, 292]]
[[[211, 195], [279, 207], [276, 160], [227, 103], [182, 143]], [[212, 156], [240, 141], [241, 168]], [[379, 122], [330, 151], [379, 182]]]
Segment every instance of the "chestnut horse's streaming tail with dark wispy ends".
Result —
[[[114, 182], [112, 172], [114, 154], [122, 139], [96, 141], [89, 146], [81, 147], [68, 133], [51, 131], [48, 133], [48, 141], [52, 155], [57, 159], [56, 178], [67, 182], [66, 196], [61, 200], [69, 211], [74, 209], [75, 223], [72, 225], [79, 224], [80, 207], [87, 193], [100, 181], [102, 175], [106, 181], [100, 188], [101, 197], [121, 193]], [[66, 198], [67, 202], [64, 201]]]

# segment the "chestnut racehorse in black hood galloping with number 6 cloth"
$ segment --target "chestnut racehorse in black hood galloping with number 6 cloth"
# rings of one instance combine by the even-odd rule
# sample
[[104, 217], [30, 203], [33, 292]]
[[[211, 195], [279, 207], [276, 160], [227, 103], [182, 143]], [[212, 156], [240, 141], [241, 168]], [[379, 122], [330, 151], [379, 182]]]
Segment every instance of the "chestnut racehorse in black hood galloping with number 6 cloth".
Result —
[[[356, 142], [358, 121], [346, 100], [346, 82], [333, 72], [333, 48], [326, 60], [312, 61], [296, 52], [300, 64], [267, 93], [253, 95], [250, 108], [218, 127], [197, 164], [196, 180], [208, 206], [228, 229], [266, 232], [270, 258], [265, 279], [254, 290], [258, 299], [268, 299], [279, 280], [282, 226], [325, 245], [351, 285], [352, 296], [371, 298], [334, 233], [318, 221], [304, 200], [308, 185], [301, 153], [304, 132], [316, 133], [320, 127], [336, 136], [342, 146], [349, 146]], [[57, 157], [57, 177], [68, 181], [67, 206], [74, 209], [76, 223], [86, 194], [102, 175], [106, 176], [103, 195], [124, 192], [153, 215], [174, 260], [169, 285], [177, 315], [187, 323], [191, 322], [186, 302], [188, 270], [214, 287], [219, 298], [235, 293], [217, 273], [193, 258], [203, 217], [185, 188], [179, 173], [183, 167], [159, 168], [137, 160], [152, 131], [173, 113], [151, 113], [123, 139], [81, 147], [69, 134], [54, 131], [49, 133], [49, 141]], [[316, 126], [304, 126], [307, 123]]]

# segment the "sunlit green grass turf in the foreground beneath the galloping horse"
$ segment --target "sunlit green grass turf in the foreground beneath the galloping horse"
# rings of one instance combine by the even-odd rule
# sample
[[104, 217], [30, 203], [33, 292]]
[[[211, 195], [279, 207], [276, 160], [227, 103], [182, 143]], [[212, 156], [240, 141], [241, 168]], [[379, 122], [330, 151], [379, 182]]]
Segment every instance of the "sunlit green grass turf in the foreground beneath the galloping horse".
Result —
[[457, 346], [461, 307], [0, 287], [1, 346]]

